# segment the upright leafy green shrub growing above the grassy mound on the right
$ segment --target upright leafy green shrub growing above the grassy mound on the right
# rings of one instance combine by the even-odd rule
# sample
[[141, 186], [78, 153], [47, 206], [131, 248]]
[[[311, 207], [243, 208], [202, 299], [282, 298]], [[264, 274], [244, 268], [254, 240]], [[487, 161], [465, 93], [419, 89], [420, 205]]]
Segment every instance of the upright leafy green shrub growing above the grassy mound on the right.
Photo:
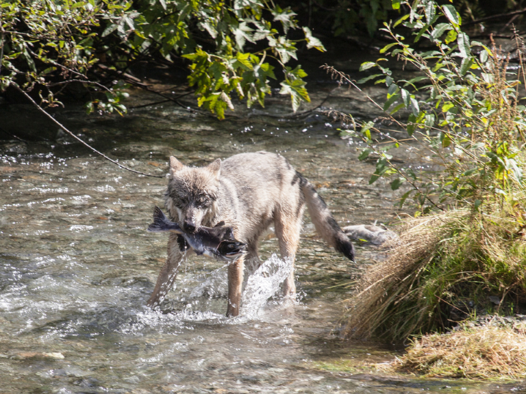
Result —
[[[401, 205], [412, 196], [421, 212], [427, 213], [447, 205], [478, 209], [488, 196], [505, 198], [510, 183], [523, 182], [523, 170], [516, 161], [526, 131], [526, 108], [518, 105], [523, 68], [511, 73], [499, 49], [470, 40], [453, 5], [440, 6], [433, 0], [393, 0], [392, 4], [393, 8], [405, 4], [410, 12], [386, 24], [383, 30], [393, 42], [380, 52], [397, 57], [406, 68], [417, 70], [417, 75], [396, 79], [382, 65], [386, 59], [380, 58], [362, 64], [361, 70], [379, 73], [359, 83], [375, 80], [386, 84], [384, 111], [405, 130], [410, 144], [421, 144], [429, 163], [442, 171], [416, 174], [410, 167], [395, 166], [388, 150], [403, 142], [375, 129], [373, 122], [360, 124], [358, 134], [348, 130], [342, 135], [359, 135], [368, 144], [360, 159], [373, 152], [379, 155], [370, 183], [391, 176], [392, 189], [410, 184]], [[413, 38], [396, 33], [393, 29], [398, 25], [410, 29]], [[425, 49], [415, 49], [421, 40], [426, 41], [420, 46]], [[521, 45], [518, 38], [517, 45]], [[475, 50], [478, 56], [473, 55]], [[392, 117], [401, 111], [408, 116], [406, 124]], [[392, 143], [379, 144], [386, 138]]]

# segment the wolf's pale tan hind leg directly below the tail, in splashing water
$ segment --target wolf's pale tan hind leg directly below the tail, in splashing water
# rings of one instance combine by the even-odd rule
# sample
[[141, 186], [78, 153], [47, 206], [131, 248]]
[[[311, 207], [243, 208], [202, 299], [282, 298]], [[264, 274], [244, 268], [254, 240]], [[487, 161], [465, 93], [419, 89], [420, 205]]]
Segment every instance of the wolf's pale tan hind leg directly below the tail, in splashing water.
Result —
[[294, 283], [294, 260], [299, 246], [299, 231], [301, 229], [301, 217], [303, 208], [298, 212], [279, 211], [275, 215], [275, 229], [281, 259], [290, 261], [290, 274], [283, 284], [284, 296], [292, 296], [296, 293]]

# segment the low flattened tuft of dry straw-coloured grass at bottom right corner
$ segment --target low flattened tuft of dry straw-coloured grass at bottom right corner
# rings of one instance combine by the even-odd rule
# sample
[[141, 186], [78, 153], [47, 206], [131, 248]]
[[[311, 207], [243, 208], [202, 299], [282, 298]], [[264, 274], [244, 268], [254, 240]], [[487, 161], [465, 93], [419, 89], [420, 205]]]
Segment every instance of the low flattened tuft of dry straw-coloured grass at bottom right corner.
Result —
[[464, 328], [414, 339], [395, 367], [447, 378], [526, 378], [526, 335], [510, 327]]

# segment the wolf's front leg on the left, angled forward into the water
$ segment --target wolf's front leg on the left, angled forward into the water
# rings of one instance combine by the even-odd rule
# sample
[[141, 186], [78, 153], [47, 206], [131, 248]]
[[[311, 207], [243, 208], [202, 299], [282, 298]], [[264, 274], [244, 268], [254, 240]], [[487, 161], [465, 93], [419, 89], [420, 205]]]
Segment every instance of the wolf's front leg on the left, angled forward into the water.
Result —
[[159, 273], [157, 283], [155, 283], [155, 289], [153, 289], [153, 293], [151, 293], [146, 303], [150, 308], [158, 308], [162, 300], [166, 297], [166, 293], [172, 288], [173, 282], [177, 277], [179, 264], [184, 258], [185, 250], [184, 238], [181, 237], [181, 235], [171, 233], [168, 238], [168, 258]]

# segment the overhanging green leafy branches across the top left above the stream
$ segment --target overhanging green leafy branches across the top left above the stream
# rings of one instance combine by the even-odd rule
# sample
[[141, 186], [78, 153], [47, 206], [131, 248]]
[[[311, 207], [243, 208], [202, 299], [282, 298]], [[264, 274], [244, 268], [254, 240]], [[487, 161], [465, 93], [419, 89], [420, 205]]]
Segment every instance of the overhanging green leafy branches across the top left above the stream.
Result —
[[38, 88], [42, 103], [58, 105], [58, 92], [82, 83], [92, 94], [88, 112], [125, 111], [127, 86], [115, 79], [158, 54], [190, 61], [198, 103], [218, 118], [234, 109], [234, 92], [249, 106], [264, 105], [275, 66], [284, 73], [281, 94], [290, 94], [296, 111], [310, 101], [305, 72], [288, 66], [297, 45], [325, 50], [308, 27], [304, 38], [288, 38], [299, 29], [295, 12], [266, 0], [3, 0], [0, 21], [0, 90], [12, 83]]

